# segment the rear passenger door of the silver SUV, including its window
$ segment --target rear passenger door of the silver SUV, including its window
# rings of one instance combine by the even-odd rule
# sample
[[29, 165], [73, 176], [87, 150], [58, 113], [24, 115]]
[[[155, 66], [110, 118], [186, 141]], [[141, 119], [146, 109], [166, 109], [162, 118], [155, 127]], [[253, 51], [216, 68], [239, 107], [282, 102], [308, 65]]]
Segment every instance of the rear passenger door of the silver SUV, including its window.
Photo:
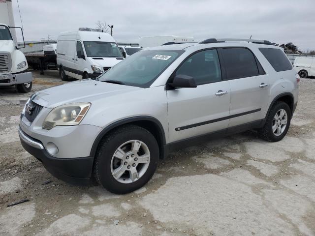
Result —
[[229, 127], [261, 119], [270, 95], [268, 75], [248, 48], [222, 48], [220, 55], [231, 88]]

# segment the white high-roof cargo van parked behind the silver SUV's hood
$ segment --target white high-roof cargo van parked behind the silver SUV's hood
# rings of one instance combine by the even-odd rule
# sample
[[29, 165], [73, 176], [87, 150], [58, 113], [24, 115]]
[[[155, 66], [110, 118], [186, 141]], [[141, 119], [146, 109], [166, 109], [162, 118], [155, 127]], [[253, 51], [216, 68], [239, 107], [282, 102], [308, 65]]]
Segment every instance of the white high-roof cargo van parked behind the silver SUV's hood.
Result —
[[57, 41], [57, 67], [61, 79], [95, 78], [124, 59], [114, 38], [92, 31], [62, 32]]

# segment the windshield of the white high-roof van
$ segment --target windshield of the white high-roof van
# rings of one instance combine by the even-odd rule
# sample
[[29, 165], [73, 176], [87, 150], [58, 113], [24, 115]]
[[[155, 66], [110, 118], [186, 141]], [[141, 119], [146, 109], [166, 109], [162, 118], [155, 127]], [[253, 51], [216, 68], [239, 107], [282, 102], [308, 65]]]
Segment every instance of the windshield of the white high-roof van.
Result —
[[116, 43], [84, 41], [85, 52], [89, 58], [122, 58]]

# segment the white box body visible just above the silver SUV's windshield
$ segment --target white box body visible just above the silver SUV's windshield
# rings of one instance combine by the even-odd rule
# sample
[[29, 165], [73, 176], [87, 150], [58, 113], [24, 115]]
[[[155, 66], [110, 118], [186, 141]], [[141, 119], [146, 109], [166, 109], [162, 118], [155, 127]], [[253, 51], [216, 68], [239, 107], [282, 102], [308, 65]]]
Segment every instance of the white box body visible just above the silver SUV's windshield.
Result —
[[139, 46], [141, 48], [151, 48], [161, 46], [163, 44], [174, 44], [174, 43], [193, 43], [194, 39], [190, 36], [145, 36], [140, 37]]

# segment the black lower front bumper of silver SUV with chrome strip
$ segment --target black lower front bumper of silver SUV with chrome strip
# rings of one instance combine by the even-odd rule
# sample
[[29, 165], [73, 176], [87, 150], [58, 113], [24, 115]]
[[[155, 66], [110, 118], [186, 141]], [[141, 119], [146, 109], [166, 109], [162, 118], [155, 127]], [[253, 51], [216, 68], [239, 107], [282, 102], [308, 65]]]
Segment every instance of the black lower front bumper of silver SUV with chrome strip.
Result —
[[41, 161], [53, 176], [77, 185], [90, 183], [94, 157], [56, 158], [46, 151], [39, 140], [27, 135], [20, 127], [19, 136], [23, 148]]

